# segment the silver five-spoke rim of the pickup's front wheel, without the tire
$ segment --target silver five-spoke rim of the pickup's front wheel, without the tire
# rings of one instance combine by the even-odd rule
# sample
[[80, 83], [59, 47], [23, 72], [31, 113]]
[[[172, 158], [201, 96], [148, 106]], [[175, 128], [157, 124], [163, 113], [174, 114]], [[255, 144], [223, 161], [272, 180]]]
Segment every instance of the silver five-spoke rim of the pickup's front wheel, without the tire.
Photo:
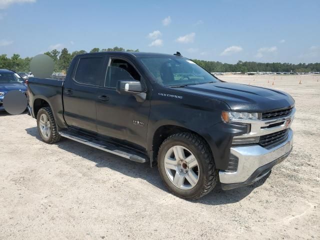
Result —
[[165, 173], [176, 187], [189, 190], [199, 180], [199, 164], [193, 153], [184, 146], [172, 146], [164, 156]]

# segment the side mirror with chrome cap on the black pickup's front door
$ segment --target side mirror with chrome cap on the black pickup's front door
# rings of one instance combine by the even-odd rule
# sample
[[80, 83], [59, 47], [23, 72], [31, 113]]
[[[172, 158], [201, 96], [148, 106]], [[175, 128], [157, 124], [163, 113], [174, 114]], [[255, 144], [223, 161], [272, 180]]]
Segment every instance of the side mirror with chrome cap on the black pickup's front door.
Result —
[[139, 81], [118, 80], [115, 89], [120, 94], [133, 95], [138, 102], [144, 101], [146, 97], [143, 86]]

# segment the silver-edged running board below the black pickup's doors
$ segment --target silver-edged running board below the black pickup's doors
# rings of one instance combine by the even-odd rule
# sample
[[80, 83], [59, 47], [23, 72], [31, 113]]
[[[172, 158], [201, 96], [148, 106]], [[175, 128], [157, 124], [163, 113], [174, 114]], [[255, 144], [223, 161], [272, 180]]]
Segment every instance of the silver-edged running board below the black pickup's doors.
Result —
[[112, 153], [114, 155], [122, 156], [122, 157], [127, 158], [131, 161], [136, 161], [136, 162], [140, 162], [140, 163], [144, 163], [147, 161], [145, 158], [138, 156], [138, 155], [134, 154], [133, 152], [130, 153], [130, 152], [124, 151], [124, 149], [121, 149], [121, 147], [117, 147], [116, 145], [113, 145], [113, 144], [110, 144], [107, 142], [101, 142], [101, 141], [95, 140], [93, 138], [70, 134], [69, 132], [64, 132], [64, 131], [59, 131], [59, 134], [61, 136], [64, 136], [64, 137], [69, 138], [71, 140], [83, 143], [85, 145], [98, 148], [100, 150]]

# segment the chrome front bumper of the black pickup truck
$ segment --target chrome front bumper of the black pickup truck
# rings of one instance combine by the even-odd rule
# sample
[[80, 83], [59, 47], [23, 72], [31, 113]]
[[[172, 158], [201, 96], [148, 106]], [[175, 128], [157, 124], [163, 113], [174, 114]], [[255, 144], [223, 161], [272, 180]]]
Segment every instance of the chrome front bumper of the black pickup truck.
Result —
[[269, 149], [258, 144], [231, 147], [230, 153], [238, 158], [238, 167], [234, 172], [219, 170], [222, 189], [246, 186], [259, 180], [288, 156], [292, 146], [293, 132], [289, 129], [287, 138]]

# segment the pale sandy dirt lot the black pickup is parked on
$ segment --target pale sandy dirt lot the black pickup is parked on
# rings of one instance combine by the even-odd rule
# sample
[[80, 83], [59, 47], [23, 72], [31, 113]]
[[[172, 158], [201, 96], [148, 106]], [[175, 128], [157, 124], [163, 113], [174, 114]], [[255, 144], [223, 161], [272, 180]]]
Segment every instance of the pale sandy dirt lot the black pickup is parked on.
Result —
[[0, 239], [320, 239], [320, 76], [220, 78], [296, 101], [293, 151], [267, 178], [186, 201], [148, 164], [45, 144], [35, 119], [0, 113]]

